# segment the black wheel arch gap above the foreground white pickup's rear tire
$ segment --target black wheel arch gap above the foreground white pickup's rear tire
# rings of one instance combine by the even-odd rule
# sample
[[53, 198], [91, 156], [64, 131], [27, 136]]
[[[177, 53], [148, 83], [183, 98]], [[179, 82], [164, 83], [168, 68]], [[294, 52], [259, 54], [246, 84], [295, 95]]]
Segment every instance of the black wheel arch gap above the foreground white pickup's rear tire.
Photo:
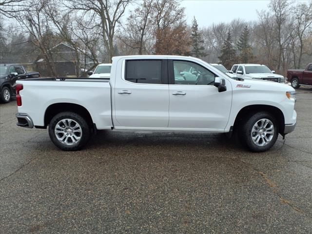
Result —
[[75, 112], [80, 116], [84, 117], [88, 122], [89, 126], [93, 128], [94, 123], [89, 111], [79, 104], [69, 102], [54, 103], [48, 106], [44, 113], [44, 128], [47, 127], [47, 125], [50, 123], [51, 119], [55, 115], [65, 111]]

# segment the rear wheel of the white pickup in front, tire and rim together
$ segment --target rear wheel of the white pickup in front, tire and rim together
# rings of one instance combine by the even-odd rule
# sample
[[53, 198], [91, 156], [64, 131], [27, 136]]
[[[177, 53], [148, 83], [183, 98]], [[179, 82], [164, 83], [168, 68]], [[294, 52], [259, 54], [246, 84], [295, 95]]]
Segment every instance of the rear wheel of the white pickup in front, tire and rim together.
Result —
[[53, 117], [49, 125], [49, 136], [61, 150], [81, 149], [90, 138], [87, 121], [74, 112], [61, 112]]

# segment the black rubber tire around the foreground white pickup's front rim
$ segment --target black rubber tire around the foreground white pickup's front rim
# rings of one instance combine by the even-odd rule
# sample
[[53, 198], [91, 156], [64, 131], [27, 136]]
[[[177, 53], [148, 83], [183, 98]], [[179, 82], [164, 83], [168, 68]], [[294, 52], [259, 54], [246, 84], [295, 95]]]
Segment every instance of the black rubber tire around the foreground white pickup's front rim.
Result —
[[[258, 121], [261, 121], [261, 119], [270, 120], [273, 125], [272, 128], [274, 129], [274, 133], [268, 135], [269, 138], [272, 136], [271, 140], [263, 146], [257, 145], [253, 141], [253, 137], [252, 137], [253, 127]], [[253, 152], [264, 152], [264, 151], [269, 150], [275, 144], [276, 139], [278, 137], [278, 124], [277, 124], [276, 118], [272, 114], [265, 112], [265, 111], [255, 112], [243, 118], [241, 121], [242, 122], [239, 124], [239, 127], [238, 127], [238, 138], [244, 147], [246, 147], [247, 149]], [[262, 140], [264, 139], [263, 138], [261, 139], [261, 143], [263, 143]]]

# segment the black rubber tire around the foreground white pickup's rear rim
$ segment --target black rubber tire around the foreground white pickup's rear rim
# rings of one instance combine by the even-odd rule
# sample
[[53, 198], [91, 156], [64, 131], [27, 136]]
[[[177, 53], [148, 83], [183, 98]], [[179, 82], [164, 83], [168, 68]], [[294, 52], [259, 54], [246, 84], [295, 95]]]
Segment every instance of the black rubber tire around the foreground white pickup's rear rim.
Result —
[[[62, 133], [61, 131], [59, 131], [60, 133], [58, 134], [58, 137], [61, 138], [63, 136], [65, 136], [65, 138], [68, 138], [67, 143], [65, 141], [61, 141], [57, 138], [55, 130], [60, 130], [60, 125], [57, 124], [63, 120], [63, 122], [66, 120], [65, 119], [71, 119], [73, 120], [72, 122], [72, 126], [73, 123], [75, 124], [78, 123], [79, 125], [79, 131], [81, 131], [81, 135], [80, 138], [77, 140], [77, 138], [79, 137], [79, 135], [75, 135], [77, 133], [74, 133], [74, 130], [71, 130], [71, 134], [66, 133], [65, 131], [69, 131], [69, 130], [64, 130], [64, 133]], [[62, 123], [62, 122], [61, 122]], [[69, 124], [69, 121], [67, 120], [67, 125]], [[63, 125], [66, 128], [65, 125]], [[61, 126], [61, 127], [63, 127]], [[77, 126], [77, 125], [76, 125]], [[62, 128], [63, 129], [63, 128]], [[68, 127], [68, 129], [70, 129], [70, 126]], [[67, 135], [70, 135], [67, 137]], [[65, 151], [75, 151], [75, 150], [80, 150], [90, 139], [91, 137], [91, 128], [88, 125], [86, 119], [84, 117], [81, 117], [80, 115], [78, 115], [75, 112], [61, 112], [59, 114], [57, 114], [55, 117], [53, 117], [50, 121], [50, 125], [49, 125], [49, 136], [52, 140], [52, 142], [59, 147], [59, 149], [61, 150], [65, 150]], [[77, 142], [73, 142], [72, 139], [76, 139]], [[72, 143], [72, 144], [68, 144], [68, 143]]]

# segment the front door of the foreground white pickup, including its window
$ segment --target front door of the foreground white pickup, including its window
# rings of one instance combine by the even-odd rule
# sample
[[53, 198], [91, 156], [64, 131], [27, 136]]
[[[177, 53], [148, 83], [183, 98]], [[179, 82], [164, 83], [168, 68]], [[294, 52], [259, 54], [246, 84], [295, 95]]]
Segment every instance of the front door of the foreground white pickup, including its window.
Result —
[[[216, 75], [190, 61], [169, 60], [169, 128], [190, 131], [222, 132], [232, 104], [232, 86], [226, 79], [227, 91], [218, 92]], [[192, 71], [188, 74], [188, 71]], [[196, 78], [194, 78], [196, 76]]]

